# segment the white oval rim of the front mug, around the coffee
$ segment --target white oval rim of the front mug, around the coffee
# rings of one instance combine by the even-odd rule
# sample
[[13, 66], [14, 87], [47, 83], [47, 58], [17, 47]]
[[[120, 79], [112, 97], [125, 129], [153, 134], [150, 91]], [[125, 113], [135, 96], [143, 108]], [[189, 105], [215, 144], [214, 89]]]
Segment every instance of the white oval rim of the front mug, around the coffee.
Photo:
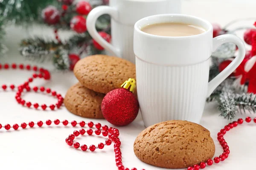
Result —
[[[190, 36], [179, 36], [179, 37], [167, 37], [167, 36], [160, 36], [160, 35], [154, 35], [154, 34], [148, 34], [145, 33], [144, 31], [141, 30], [141, 23], [144, 22], [145, 20], [147, 20], [148, 22], [150, 20], [153, 20], [154, 18], [163, 18], [163, 17], [183, 17], [183, 18], [191, 18], [192, 20], [198, 20], [201, 23], [206, 23], [207, 24], [207, 28], [204, 28], [203, 26], [200, 26], [202, 28], [204, 28], [206, 31], [201, 33], [201, 34], [196, 34], [196, 35], [190, 35]], [[152, 24], [159, 24], [159, 23], [163, 23], [163, 22], [155, 22], [155, 23], [151, 23], [151, 24], [146, 24], [144, 26], [148, 26], [148, 25], [152, 25]], [[180, 23], [184, 23], [184, 22], [180, 22]], [[191, 23], [193, 25], [193, 23]], [[201, 24], [202, 25], [202, 24]], [[143, 27], [144, 27], [143, 26]], [[143, 34], [145, 36], [149, 36], [149, 37], [154, 37], [154, 38], [165, 38], [165, 39], [184, 39], [184, 38], [192, 38], [192, 37], [198, 37], [198, 36], [204, 36], [205, 34], [209, 34], [210, 31], [212, 31], [212, 24], [207, 21], [204, 20], [202, 18], [199, 17], [195, 17], [192, 15], [186, 15], [186, 14], [157, 14], [157, 15], [151, 15], [148, 17], [144, 17], [140, 20], [138, 20], [135, 24], [134, 24], [134, 30], [138, 31], [140, 34]]]

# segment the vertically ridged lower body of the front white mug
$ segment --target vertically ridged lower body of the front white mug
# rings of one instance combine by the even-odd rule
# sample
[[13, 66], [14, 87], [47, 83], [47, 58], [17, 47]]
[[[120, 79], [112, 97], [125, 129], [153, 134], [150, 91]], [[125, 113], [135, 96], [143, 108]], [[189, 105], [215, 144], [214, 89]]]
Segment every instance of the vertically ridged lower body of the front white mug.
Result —
[[207, 94], [209, 59], [194, 65], [165, 66], [136, 57], [136, 77], [146, 127], [166, 120], [199, 123]]

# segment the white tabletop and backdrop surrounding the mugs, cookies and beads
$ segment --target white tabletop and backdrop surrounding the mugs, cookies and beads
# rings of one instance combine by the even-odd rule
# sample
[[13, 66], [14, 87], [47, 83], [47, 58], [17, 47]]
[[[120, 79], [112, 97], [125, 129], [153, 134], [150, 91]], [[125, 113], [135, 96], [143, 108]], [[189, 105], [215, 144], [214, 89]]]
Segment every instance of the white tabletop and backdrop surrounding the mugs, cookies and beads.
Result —
[[[183, 14], [192, 14], [203, 17], [210, 22], [217, 22], [224, 26], [230, 20], [244, 17], [255, 17], [256, 2], [254, 0], [186, 0], [182, 4]], [[251, 23], [240, 23], [251, 24]], [[32, 30], [32, 29], [31, 29]], [[27, 34], [34, 34], [32, 31], [24, 32], [22, 29], [9, 27], [7, 30], [6, 45], [9, 52], [5, 57], [0, 58], [1, 63], [29, 63], [24, 60], [17, 52], [17, 42]], [[35, 34], [51, 34], [49, 29], [39, 29]], [[62, 34], [61, 34], [62, 35]], [[30, 62], [31, 63], [31, 62]], [[50, 81], [35, 80], [33, 85], [44, 85], [65, 95], [67, 89], [77, 82], [72, 72], [59, 72], [52, 69], [50, 62], [44, 64], [34, 62], [33, 64], [44, 65], [51, 70], [52, 79]], [[32, 72], [29, 71], [0, 71], [0, 84], [3, 83], [19, 85], [27, 80]], [[23, 95], [25, 100], [47, 105], [55, 103], [56, 100], [50, 96], [27, 93]], [[218, 131], [228, 124], [229, 121], [219, 117], [216, 103], [207, 104], [201, 125], [210, 130], [211, 136], [215, 141], [215, 156], [221, 154], [221, 147], [216, 139]], [[238, 114], [239, 117], [247, 115]], [[253, 117], [253, 115], [251, 115]], [[21, 122], [29, 122], [46, 119], [67, 119], [84, 120], [85, 122], [100, 122], [102, 125], [111, 126], [105, 120], [84, 119], [69, 113], [62, 107], [57, 111], [35, 111], [18, 105], [15, 101], [15, 92], [0, 91], [0, 123], [13, 125]], [[254, 123], [241, 125], [227, 133], [225, 139], [230, 146], [230, 156], [224, 162], [207, 167], [209, 170], [239, 170], [254, 169], [255, 167], [255, 141], [256, 130]], [[36, 126], [35, 126], [36, 127]], [[113, 145], [105, 147], [96, 152], [82, 152], [67, 146], [65, 138], [73, 132], [79, 130], [79, 127], [44, 127], [27, 128], [26, 130], [0, 130], [0, 169], [20, 169], [20, 170], [71, 170], [71, 169], [89, 169], [89, 170], [116, 170]], [[119, 127], [120, 139], [122, 142], [122, 160], [125, 167], [137, 167], [138, 170], [158, 170], [161, 168], [153, 167], [139, 161], [133, 153], [133, 142], [136, 136], [144, 129], [143, 121], [139, 115], [137, 119], [126, 127]], [[77, 139], [80, 144], [98, 144], [104, 142], [102, 137], [83, 136]]]

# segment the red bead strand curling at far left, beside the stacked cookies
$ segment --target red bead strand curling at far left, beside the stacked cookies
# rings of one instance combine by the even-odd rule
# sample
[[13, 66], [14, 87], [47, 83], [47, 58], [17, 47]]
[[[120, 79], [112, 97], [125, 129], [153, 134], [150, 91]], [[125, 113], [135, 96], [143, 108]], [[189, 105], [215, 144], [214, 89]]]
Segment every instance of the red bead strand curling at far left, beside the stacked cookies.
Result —
[[[61, 96], [61, 94], [57, 94], [56, 91], [52, 91], [50, 88], [45, 88], [43, 86], [40, 88], [38, 88], [37, 86], [31, 88], [29, 86], [29, 83], [33, 82], [33, 80], [35, 78], [43, 78], [45, 80], [49, 80], [51, 78], [51, 75], [48, 70], [46, 70], [44, 68], [38, 68], [37, 66], [33, 66], [33, 67], [31, 65], [24, 66], [23, 64], [17, 65], [15, 63], [13, 63], [12, 65], [9, 65], [9, 64], [1, 65], [0, 64], [0, 69], [1, 68], [6, 69], [6, 70], [9, 68], [12, 68], [12, 69], [35, 71], [35, 73], [32, 75], [32, 77], [29, 77], [28, 81], [24, 82], [21, 85], [18, 85], [16, 89], [15, 89], [15, 85], [13, 85], [13, 84], [11, 84], [11, 85], [3, 84], [2, 85], [2, 89], [4, 91], [7, 91], [8, 88], [10, 88], [10, 90], [12, 90], [12, 91], [17, 90], [15, 99], [20, 105], [26, 106], [28, 108], [34, 107], [35, 109], [38, 109], [39, 107], [41, 107], [43, 110], [46, 110], [47, 108], [49, 108], [50, 110], [54, 110], [55, 108], [60, 108], [61, 105], [63, 104], [63, 100], [64, 100], [63, 97]], [[33, 91], [37, 92], [38, 89], [42, 93], [51, 94], [52, 96], [56, 97], [58, 102], [56, 102], [55, 104], [52, 104], [52, 105], [46, 105], [46, 104], [39, 105], [38, 103], [32, 103], [32, 102], [25, 101], [24, 99], [22, 99], [22, 94], [25, 91], [28, 92], [28, 91], [33, 90]]]

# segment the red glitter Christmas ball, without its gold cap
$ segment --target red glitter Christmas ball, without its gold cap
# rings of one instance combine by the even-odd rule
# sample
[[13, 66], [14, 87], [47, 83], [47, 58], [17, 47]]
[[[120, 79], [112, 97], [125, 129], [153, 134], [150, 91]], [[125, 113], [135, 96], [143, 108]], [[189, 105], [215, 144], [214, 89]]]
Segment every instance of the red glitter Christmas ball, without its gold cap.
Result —
[[106, 94], [101, 108], [108, 122], [116, 126], [125, 126], [137, 117], [139, 102], [131, 91], [118, 88]]

